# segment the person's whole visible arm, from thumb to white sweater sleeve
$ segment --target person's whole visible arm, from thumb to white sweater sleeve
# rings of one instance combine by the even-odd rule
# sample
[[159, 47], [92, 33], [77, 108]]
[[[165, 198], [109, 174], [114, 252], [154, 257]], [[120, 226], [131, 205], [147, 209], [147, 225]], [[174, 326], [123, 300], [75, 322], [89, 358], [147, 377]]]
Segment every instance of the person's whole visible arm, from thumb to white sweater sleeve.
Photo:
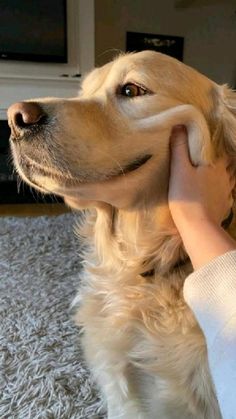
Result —
[[233, 181], [220, 161], [193, 167], [183, 129], [171, 141], [169, 207], [192, 261], [184, 298], [206, 338], [223, 419], [236, 419], [236, 243], [221, 228]]

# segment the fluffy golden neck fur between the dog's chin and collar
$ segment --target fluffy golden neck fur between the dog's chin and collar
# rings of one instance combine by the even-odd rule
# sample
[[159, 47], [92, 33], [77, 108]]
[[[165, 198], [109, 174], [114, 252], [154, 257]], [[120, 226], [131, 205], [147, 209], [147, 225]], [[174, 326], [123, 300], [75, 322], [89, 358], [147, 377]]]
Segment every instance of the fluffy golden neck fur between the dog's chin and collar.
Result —
[[97, 274], [150, 269], [169, 273], [186, 254], [167, 208], [139, 211], [111, 206], [87, 211], [78, 229], [89, 245], [89, 268]]

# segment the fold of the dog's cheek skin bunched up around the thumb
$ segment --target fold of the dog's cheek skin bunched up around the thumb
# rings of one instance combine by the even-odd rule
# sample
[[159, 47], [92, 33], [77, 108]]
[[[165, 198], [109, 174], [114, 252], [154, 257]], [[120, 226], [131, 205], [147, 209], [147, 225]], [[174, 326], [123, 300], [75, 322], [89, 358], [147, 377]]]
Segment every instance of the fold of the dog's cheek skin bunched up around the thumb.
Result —
[[184, 125], [188, 132], [189, 154], [194, 165], [209, 163], [215, 153], [203, 113], [192, 105], [179, 105], [137, 122], [140, 130], [155, 131], [168, 140], [176, 125]]

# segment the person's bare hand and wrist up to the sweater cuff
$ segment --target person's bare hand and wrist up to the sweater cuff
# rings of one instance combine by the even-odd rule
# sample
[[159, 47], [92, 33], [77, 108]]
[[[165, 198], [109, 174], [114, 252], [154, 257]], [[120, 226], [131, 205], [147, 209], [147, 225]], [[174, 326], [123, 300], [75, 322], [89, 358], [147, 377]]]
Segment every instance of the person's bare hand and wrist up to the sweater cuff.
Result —
[[174, 131], [169, 208], [194, 269], [236, 248], [235, 241], [221, 228], [233, 203], [233, 186], [224, 160], [214, 166], [194, 167], [186, 132], [182, 128]]

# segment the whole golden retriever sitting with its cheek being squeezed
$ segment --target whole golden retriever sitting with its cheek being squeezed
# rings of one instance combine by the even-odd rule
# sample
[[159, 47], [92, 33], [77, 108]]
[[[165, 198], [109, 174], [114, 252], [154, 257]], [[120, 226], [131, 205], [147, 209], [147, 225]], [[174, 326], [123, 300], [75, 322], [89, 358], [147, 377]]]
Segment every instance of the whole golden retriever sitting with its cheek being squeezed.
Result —
[[87, 208], [76, 321], [108, 418], [219, 419], [205, 339], [183, 299], [192, 266], [168, 210], [169, 139], [184, 125], [194, 165], [226, 154], [235, 170], [234, 93], [144, 51], [92, 71], [78, 97], [8, 115], [19, 175]]

